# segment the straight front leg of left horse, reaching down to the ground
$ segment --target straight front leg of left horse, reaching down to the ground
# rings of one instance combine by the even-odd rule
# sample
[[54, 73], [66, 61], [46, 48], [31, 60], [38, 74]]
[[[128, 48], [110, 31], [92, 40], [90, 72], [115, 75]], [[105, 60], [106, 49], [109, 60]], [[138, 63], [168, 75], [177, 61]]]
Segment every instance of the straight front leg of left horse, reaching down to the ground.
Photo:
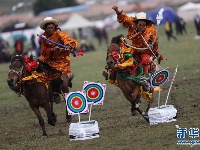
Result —
[[47, 132], [46, 132], [46, 129], [45, 129], [45, 123], [44, 123], [44, 119], [42, 118], [41, 116], [41, 113], [39, 111], [39, 107], [34, 107], [34, 106], [30, 106], [31, 109], [34, 111], [34, 113], [36, 114], [38, 120], [39, 120], [39, 124], [42, 128], [42, 139], [45, 139], [45, 138], [48, 138], [48, 135], [47, 135]]

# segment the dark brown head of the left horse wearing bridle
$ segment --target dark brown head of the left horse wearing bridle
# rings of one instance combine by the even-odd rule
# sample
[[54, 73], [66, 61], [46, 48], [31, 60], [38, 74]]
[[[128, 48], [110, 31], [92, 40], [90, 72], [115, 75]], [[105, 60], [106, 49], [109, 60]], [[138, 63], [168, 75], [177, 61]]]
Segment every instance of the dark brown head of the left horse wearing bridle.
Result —
[[7, 77], [7, 83], [11, 90], [20, 92], [19, 80], [24, 73], [24, 57], [23, 55], [15, 55], [11, 58], [11, 64], [9, 66], [9, 73]]

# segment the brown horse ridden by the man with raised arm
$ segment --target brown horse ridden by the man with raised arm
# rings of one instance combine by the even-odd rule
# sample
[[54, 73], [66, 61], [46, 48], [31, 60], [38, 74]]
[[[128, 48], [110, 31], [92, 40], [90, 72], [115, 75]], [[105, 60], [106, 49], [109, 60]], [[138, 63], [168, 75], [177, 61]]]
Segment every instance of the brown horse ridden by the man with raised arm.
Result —
[[[139, 82], [139, 77], [141, 76], [141, 69], [139, 68], [136, 70], [121, 70], [121, 69], [115, 69], [115, 64], [120, 61], [120, 48], [121, 48], [121, 37], [123, 35], [119, 35], [116, 37], [113, 37], [111, 40], [111, 44], [109, 45], [107, 49], [107, 69], [109, 70], [110, 78], [116, 79], [117, 86], [122, 90], [124, 96], [126, 99], [131, 103], [131, 112], [132, 115], [136, 114], [136, 111], [138, 111], [146, 121], [148, 120], [148, 110], [150, 108], [150, 104], [152, 101], [148, 102], [148, 107], [146, 111], [142, 111], [139, 106], [141, 104], [141, 85]], [[116, 56], [116, 54], [118, 56]], [[114, 74], [116, 74], [116, 76]], [[103, 73], [105, 76], [105, 72]], [[153, 91], [151, 91], [153, 92]]]

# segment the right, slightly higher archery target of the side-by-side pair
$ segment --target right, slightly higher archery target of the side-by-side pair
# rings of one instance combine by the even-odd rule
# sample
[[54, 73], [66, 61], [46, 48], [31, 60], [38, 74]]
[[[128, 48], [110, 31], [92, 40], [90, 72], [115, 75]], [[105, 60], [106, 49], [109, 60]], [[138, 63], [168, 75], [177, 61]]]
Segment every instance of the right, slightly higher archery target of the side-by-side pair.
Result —
[[83, 90], [89, 104], [103, 105], [106, 85], [94, 82], [84, 82]]

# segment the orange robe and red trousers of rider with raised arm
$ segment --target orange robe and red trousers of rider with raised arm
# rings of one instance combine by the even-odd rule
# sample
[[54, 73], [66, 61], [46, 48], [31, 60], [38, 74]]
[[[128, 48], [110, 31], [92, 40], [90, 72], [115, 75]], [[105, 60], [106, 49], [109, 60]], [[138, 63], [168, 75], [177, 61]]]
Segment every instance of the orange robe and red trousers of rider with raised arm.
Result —
[[[158, 38], [155, 26], [150, 24], [146, 26], [144, 32], [137, 32], [136, 23], [134, 22], [135, 17], [129, 17], [125, 13], [121, 13], [117, 16], [117, 19], [124, 28], [128, 28], [127, 39], [132, 41], [133, 47], [136, 47], [134, 49], [134, 54], [140, 57], [144, 67], [144, 73], [148, 73], [149, 59], [158, 49]], [[150, 44], [150, 49], [153, 53], [147, 46], [148, 41], [152, 42], [152, 45]]]

